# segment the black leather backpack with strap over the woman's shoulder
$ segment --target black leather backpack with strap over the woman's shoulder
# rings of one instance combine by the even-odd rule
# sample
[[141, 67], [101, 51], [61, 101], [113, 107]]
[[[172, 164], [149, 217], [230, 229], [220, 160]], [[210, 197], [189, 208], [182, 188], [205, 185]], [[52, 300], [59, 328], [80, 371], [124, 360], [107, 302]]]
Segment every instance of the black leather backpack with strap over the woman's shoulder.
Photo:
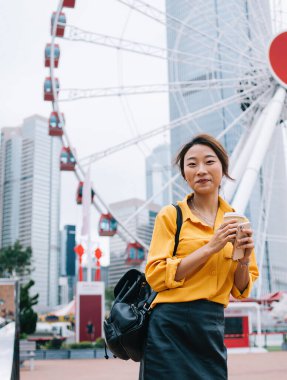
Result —
[[[173, 256], [176, 254], [182, 225], [181, 209], [178, 205], [175, 207], [177, 228]], [[115, 357], [135, 362], [142, 359], [150, 305], [156, 295], [144, 273], [137, 269], [126, 272], [115, 286], [111, 313], [104, 321], [106, 346]], [[108, 359], [107, 353], [105, 357]]]

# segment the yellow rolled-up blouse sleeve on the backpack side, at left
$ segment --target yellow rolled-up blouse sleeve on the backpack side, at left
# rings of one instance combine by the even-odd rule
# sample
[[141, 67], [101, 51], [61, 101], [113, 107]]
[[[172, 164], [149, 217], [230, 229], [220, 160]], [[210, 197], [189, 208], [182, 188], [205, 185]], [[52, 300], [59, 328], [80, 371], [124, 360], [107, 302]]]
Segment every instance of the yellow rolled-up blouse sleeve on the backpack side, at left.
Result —
[[175, 281], [181, 259], [172, 256], [175, 244], [176, 209], [164, 207], [156, 217], [145, 275], [156, 292], [182, 286], [185, 279]]

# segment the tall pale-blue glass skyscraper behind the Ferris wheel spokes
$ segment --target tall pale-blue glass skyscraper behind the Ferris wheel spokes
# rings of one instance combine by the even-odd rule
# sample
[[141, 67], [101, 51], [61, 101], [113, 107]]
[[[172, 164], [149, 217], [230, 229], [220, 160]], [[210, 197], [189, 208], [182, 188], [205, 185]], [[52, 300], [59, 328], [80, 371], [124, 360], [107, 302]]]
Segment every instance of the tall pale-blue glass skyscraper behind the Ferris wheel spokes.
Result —
[[[259, 3], [260, 5], [258, 5]], [[250, 74], [254, 74], [254, 71], [256, 71], [254, 61], [252, 62], [251, 59], [249, 62], [248, 57], [256, 57], [257, 47], [262, 46], [262, 40], [268, 38], [268, 29], [271, 30], [270, 3], [268, 0], [261, 0], [257, 2], [257, 5], [255, 1], [248, 0], [191, 0], [189, 2], [185, 0], [166, 0], [166, 12], [173, 17], [173, 20], [179, 20], [179, 22], [173, 21], [173, 25], [170, 24], [173, 27], [167, 31], [167, 47], [177, 52], [197, 56], [197, 59], [190, 59], [189, 63], [184, 62], [184, 60], [169, 60], [170, 82], [188, 83], [192, 81], [196, 83], [196, 81], [206, 81], [208, 83], [210, 79], [228, 80], [230, 78], [240, 78], [249, 74], [248, 70], [253, 70]], [[250, 40], [253, 42], [252, 44], [250, 44]], [[230, 46], [231, 49], [229, 48]], [[234, 49], [232, 49], [233, 47]], [[246, 52], [243, 64], [237, 64], [239, 52], [236, 47], [240, 47], [240, 52]], [[211, 57], [212, 60], [210, 59]], [[209, 91], [190, 90], [188, 85], [185, 85], [182, 91], [170, 94], [170, 119], [175, 120], [188, 113], [208, 107], [217, 101], [236, 95], [237, 91], [237, 83], [234, 87], [226, 86], [220, 89], [209, 89]], [[216, 137], [241, 112], [240, 104], [232, 103], [204, 116], [192, 119], [182, 127], [172, 129], [172, 158], [175, 157], [180, 146], [191, 140], [199, 131]], [[229, 153], [232, 153], [236, 146], [243, 127], [240, 123], [235, 124], [232, 130], [221, 140]], [[248, 127], [248, 125], [245, 127]], [[274, 155], [272, 147], [270, 147], [268, 154], [269, 157]], [[281, 156], [282, 160], [284, 160], [283, 156]], [[264, 206], [264, 186], [268, 186], [268, 184], [263, 183], [262, 176], [265, 173], [266, 178], [266, 171], [268, 173], [270, 171], [268, 167], [270, 162], [268, 161], [270, 159], [266, 159], [262, 166], [246, 209], [246, 215], [252, 222], [256, 239], [261, 238], [261, 236], [256, 236], [256, 233], [260, 227], [259, 223], [262, 215], [268, 213], [267, 205]], [[175, 169], [173, 174], [175, 174]], [[189, 191], [190, 189], [187, 188], [185, 181], [179, 179], [173, 185], [173, 201], [183, 198], [185, 193]], [[279, 193], [281, 194], [280, 196]], [[272, 219], [270, 219], [267, 234], [272, 235], [272, 239], [275, 239], [275, 230], [280, 231], [280, 235], [284, 236], [282, 224], [279, 226], [278, 217], [272, 215], [274, 214], [274, 212], [272, 213], [273, 205], [278, 203], [282, 194], [282, 191], [280, 192], [276, 188], [271, 199], [272, 208], [268, 217]], [[224, 194], [222, 196], [224, 197]], [[263, 210], [264, 207], [265, 210]], [[282, 270], [281, 272], [279, 270], [280, 261], [281, 268], [282, 266], [287, 268], [287, 259], [283, 259], [286, 243], [284, 246], [282, 242], [276, 243], [272, 239], [266, 243], [264, 252], [262, 268], [264, 293], [283, 289], [284, 287], [286, 289], [287, 286], [287, 280], [285, 282], [282, 280]]]

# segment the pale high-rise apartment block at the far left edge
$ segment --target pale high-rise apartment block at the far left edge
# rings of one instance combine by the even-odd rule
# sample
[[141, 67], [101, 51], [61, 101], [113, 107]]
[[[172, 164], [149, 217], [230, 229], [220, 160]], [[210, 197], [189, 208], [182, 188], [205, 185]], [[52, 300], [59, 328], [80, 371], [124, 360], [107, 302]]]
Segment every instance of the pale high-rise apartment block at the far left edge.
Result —
[[19, 240], [33, 251], [31, 277], [39, 305], [58, 303], [61, 140], [35, 115], [21, 127], [2, 128], [0, 246]]

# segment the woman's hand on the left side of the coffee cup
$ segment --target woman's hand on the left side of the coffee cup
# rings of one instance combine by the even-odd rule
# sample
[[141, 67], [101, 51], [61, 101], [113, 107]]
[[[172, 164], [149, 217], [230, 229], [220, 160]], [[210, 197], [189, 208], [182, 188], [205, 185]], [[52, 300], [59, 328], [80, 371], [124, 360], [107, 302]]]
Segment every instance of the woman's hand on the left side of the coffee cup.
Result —
[[207, 243], [211, 254], [219, 252], [228, 242], [232, 243], [235, 240], [238, 221], [231, 219], [228, 222], [222, 223], [216, 230], [210, 241]]

